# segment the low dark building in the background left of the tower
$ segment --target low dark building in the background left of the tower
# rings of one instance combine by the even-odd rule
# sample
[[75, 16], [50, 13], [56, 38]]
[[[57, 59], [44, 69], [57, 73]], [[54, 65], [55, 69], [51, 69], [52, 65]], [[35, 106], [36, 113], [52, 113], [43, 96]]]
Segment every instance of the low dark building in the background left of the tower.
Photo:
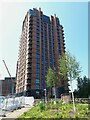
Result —
[[[13, 81], [16, 80], [15, 77], [12, 77]], [[7, 96], [12, 94], [12, 80], [10, 77], [5, 77], [4, 80], [0, 80], [0, 95]], [[14, 91], [15, 93], [15, 84], [14, 84]]]

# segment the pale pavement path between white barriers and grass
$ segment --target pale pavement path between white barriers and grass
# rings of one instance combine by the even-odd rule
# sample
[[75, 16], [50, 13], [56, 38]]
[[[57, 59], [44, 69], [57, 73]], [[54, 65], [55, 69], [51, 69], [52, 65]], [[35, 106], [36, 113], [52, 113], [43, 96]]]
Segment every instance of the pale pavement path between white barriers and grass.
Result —
[[31, 109], [31, 106], [25, 106], [21, 109], [14, 110], [13, 112], [6, 112], [6, 117], [0, 117], [0, 120], [15, 120], [16, 118], [20, 117], [24, 112], [28, 111]]

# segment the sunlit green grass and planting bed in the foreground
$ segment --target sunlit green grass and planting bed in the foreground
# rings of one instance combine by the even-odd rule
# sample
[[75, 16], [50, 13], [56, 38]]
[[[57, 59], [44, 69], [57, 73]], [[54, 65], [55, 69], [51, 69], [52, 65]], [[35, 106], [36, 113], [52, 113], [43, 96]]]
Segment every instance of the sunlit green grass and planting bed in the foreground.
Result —
[[48, 103], [38, 103], [32, 107], [29, 111], [25, 112], [20, 118], [86, 118], [89, 120], [90, 112], [88, 104], [76, 104], [76, 112], [73, 112], [73, 105], [63, 104], [61, 101], [57, 101], [54, 105], [53, 101]]

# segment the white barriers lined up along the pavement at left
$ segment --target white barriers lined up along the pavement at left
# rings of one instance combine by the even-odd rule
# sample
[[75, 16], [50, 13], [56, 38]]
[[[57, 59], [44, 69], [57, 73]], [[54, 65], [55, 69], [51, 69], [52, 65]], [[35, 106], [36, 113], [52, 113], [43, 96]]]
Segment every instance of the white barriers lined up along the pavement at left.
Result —
[[33, 106], [34, 97], [0, 97], [0, 116], [5, 116], [6, 111], [13, 111], [26, 105]]

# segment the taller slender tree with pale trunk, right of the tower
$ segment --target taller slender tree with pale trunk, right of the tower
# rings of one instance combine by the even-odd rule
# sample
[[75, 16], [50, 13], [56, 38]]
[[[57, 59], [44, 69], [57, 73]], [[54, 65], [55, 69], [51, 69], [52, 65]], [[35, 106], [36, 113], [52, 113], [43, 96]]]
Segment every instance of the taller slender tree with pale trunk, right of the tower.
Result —
[[80, 76], [80, 72], [81, 71], [79, 63], [76, 61], [76, 58], [72, 56], [69, 51], [60, 57], [59, 74], [63, 76], [64, 79], [68, 79], [70, 81], [74, 112], [76, 111], [76, 108], [74, 102], [72, 81], [76, 80]]

